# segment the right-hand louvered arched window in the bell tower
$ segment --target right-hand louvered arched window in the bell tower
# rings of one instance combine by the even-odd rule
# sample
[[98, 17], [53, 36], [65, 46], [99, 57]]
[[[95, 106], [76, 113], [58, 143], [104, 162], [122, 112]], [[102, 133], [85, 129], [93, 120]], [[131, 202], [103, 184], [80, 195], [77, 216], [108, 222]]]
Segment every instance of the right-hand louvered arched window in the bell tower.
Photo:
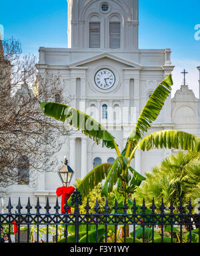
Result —
[[119, 17], [113, 16], [109, 21], [109, 47], [118, 49], [121, 45], [121, 22]]

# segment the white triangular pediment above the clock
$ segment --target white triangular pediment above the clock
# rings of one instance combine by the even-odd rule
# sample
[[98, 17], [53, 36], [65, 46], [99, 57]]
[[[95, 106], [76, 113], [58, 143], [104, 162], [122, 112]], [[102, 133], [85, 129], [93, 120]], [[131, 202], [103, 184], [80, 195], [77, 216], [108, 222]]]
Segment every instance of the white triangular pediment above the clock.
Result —
[[79, 68], [79, 67], [87, 65], [87, 63], [91, 63], [93, 61], [97, 61], [97, 60], [103, 59], [105, 57], [107, 57], [108, 59], [112, 59], [114, 61], [117, 61], [119, 63], [123, 63], [123, 65], [126, 65], [129, 68], [134, 68], [136, 70], [141, 70], [141, 68], [143, 67], [143, 66], [139, 65], [138, 63], [135, 63], [133, 61], [129, 61], [128, 59], [124, 59], [122, 57], [113, 55], [111, 53], [101, 53], [99, 55], [94, 55], [94, 56], [89, 57], [87, 59], [82, 59], [80, 61], [76, 61], [75, 63], [71, 63], [69, 68]]

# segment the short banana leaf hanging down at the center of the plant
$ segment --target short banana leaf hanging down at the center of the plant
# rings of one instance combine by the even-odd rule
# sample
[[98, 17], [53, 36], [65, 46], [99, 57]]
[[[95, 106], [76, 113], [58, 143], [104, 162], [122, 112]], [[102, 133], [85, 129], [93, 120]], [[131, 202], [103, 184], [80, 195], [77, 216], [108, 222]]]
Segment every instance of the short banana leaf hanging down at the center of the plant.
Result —
[[124, 156], [118, 156], [113, 162], [105, 183], [103, 184], [102, 193], [108, 197], [108, 193], [113, 190], [113, 186], [117, 183], [119, 176], [122, 174], [123, 169], [127, 167], [127, 159]]

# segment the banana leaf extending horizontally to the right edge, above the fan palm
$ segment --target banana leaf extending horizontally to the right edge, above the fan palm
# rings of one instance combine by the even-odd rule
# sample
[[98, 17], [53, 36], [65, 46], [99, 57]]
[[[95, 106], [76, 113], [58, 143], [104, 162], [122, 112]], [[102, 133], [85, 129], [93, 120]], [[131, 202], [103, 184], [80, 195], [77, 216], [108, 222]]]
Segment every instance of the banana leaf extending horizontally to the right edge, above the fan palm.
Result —
[[200, 138], [178, 130], [161, 130], [143, 138], [138, 144], [140, 150], [153, 148], [175, 148], [193, 152], [200, 151]]

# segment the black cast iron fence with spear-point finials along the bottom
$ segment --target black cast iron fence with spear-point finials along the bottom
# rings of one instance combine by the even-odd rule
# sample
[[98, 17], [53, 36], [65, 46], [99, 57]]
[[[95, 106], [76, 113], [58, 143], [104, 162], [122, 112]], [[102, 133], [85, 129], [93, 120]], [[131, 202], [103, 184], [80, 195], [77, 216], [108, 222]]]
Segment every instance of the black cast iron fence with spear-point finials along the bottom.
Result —
[[55, 213], [50, 213], [48, 198], [45, 213], [41, 213], [39, 198], [35, 206], [36, 213], [31, 213], [33, 207], [29, 199], [25, 207], [27, 213], [22, 213], [20, 198], [17, 211], [12, 213], [13, 206], [9, 199], [8, 213], [0, 214], [0, 225], [4, 227], [4, 232], [6, 230], [11, 235], [15, 224], [18, 229], [15, 239], [19, 243], [23, 234], [26, 237], [23, 242], [27, 243], [33, 242], [33, 234], [36, 243], [40, 241], [41, 234], [43, 241], [47, 243], [52, 236], [56, 243], [200, 243], [200, 215], [192, 214], [191, 201], [187, 207], [180, 203], [179, 213], [174, 212], [173, 203], [170, 207], [165, 207], [163, 200], [159, 209], [155, 207], [154, 201], [150, 209], [145, 206], [145, 201], [141, 207], [136, 205], [135, 200], [131, 207], [130, 201], [126, 200], [122, 207], [119, 207], [117, 201], [113, 207], [109, 207], [106, 201], [103, 213], [99, 213], [100, 207], [96, 201], [95, 213], [90, 213], [91, 207], [87, 201], [85, 213], [82, 214], [79, 211], [79, 206], [82, 205], [81, 194], [75, 190], [71, 197], [72, 214], [67, 213], [67, 201], [64, 207], [66, 213], [59, 213], [61, 207], [58, 200], [53, 207]]

